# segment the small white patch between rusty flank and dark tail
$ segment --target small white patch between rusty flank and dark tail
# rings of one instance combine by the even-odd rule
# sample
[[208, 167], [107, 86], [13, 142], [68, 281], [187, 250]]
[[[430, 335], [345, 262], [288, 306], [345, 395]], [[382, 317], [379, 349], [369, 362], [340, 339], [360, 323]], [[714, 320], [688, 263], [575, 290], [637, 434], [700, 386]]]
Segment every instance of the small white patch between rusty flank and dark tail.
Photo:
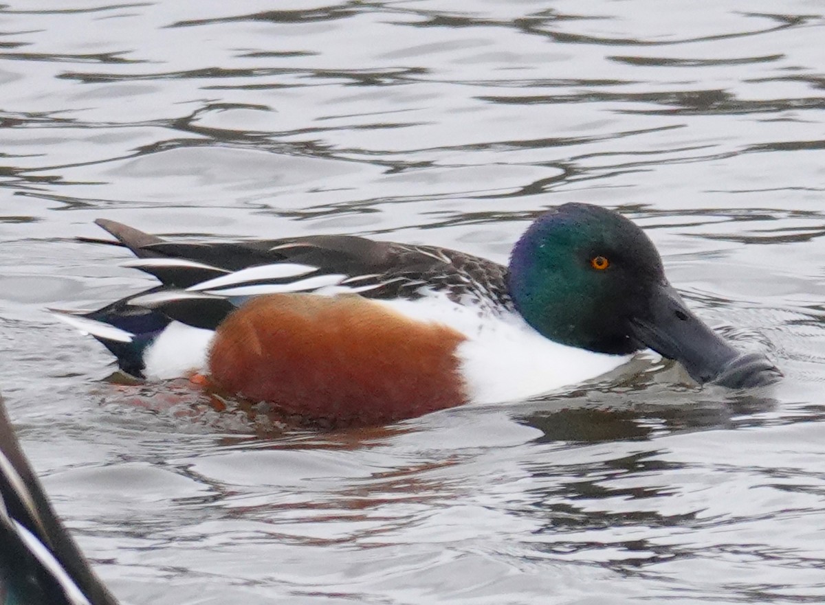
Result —
[[147, 378], [167, 380], [205, 370], [213, 335], [214, 331], [172, 321], [146, 349], [144, 374]]

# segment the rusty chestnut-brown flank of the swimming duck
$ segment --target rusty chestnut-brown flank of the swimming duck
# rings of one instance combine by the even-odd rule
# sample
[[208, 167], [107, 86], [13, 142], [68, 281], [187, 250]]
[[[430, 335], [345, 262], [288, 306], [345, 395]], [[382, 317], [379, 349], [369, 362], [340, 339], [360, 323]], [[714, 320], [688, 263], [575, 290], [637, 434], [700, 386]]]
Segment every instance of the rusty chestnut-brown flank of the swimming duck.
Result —
[[332, 424], [384, 424], [466, 401], [459, 332], [359, 296], [271, 294], [219, 326], [212, 380]]

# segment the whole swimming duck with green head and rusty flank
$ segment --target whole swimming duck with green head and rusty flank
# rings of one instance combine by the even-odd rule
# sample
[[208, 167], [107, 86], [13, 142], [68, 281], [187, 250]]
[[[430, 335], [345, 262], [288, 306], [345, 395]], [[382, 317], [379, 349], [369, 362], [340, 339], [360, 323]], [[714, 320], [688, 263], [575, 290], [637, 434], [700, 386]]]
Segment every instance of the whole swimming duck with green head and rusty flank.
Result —
[[700, 385], [766, 386], [686, 305], [643, 230], [570, 203], [535, 219], [507, 265], [440, 246], [315, 235], [169, 241], [97, 225], [159, 284], [59, 317], [142, 379], [200, 377], [285, 413], [386, 424], [464, 404], [559, 392], [645, 349]]

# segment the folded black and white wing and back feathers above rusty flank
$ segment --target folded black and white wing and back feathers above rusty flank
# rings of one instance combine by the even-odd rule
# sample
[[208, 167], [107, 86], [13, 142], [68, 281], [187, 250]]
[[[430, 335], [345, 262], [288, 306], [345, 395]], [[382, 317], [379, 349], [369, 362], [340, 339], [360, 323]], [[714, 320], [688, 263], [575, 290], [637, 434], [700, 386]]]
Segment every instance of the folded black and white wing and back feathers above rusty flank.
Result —
[[266, 293], [353, 293], [416, 299], [444, 293], [489, 311], [509, 309], [507, 268], [437, 246], [311, 236], [252, 242], [167, 242], [113, 221], [97, 223], [138, 256], [126, 263], [165, 286], [130, 304], [214, 328], [243, 300]]

